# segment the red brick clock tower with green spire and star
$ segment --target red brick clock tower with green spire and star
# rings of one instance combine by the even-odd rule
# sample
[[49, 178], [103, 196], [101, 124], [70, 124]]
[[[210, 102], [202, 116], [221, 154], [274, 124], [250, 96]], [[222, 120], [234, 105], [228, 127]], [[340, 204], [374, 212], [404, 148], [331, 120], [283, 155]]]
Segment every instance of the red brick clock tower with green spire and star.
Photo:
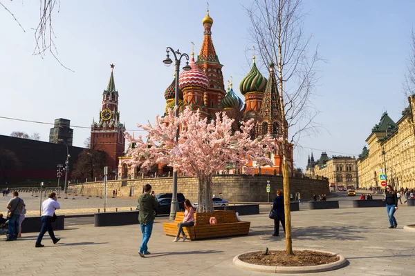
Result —
[[[120, 123], [118, 111], [118, 91], [114, 82], [114, 65], [111, 64], [111, 76], [109, 77], [107, 90], [102, 93], [102, 108], [100, 120], [93, 119], [91, 126], [91, 148], [102, 150], [105, 154], [105, 166], [108, 172], [116, 174], [118, 170], [118, 157], [124, 153], [125, 138], [124, 124]], [[102, 168], [104, 169], [104, 168]]]

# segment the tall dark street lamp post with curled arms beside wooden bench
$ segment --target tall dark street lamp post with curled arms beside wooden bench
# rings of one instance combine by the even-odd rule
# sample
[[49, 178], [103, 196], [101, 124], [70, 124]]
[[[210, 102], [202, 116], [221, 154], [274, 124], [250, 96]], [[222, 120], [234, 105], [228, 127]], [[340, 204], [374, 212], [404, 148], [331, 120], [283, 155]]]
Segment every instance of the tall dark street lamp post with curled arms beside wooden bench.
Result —
[[[175, 93], [174, 93], [174, 106], [176, 108], [175, 111], [175, 116], [178, 117], [178, 76], [179, 76], [179, 72], [180, 72], [180, 61], [182, 59], [182, 57], [186, 58], [186, 66], [183, 67], [183, 70], [187, 71], [190, 70], [192, 68], [190, 68], [189, 66], [189, 55], [185, 54], [185, 53], [181, 53], [179, 50], [174, 51], [173, 48], [171, 47], [167, 47], [166, 48], [166, 52], [167, 52], [167, 57], [165, 60], [163, 60], [163, 63], [165, 63], [166, 66], [170, 66], [170, 64], [173, 63], [172, 59], [170, 59], [169, 57], [169, 52], [173, 54], [174, 56], [174, 66], [176, 69], [176, 89], [175, 89]], [[176, 131], [176, 141], [178, 140], [178, 128]], [[172, 188], [172, 206], [170, 207], [170, 215], [169, 215], [169, 219], [170, 220], [174, 220], [176, 218], [176, 211], [177, 211], [177, 171], [173, 171], [173, 188]]]

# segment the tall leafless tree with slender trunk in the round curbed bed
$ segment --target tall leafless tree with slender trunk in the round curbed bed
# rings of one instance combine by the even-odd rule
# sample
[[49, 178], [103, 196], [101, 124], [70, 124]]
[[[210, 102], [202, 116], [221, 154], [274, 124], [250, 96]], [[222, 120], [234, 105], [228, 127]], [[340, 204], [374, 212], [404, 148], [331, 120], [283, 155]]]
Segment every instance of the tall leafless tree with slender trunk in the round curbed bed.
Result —
[[[257, 44], [263, 63], [274, 63], [280, 95], [282, 122], [282, 175], [284, 179], [284, 208], [286, 253], [293, 254], [291, 239], [290, 185], [287, 163], [288, 144], [297, 144], [300, 137], [317, 131], [314, 122], [317, 110], [311, 104], [317, 83], [315, 64], [320, 58], [317, 50], [308, 55], [311, 36], [304, 33], [302, 0], [254, 0], [246, 8], [251, 21], [250, 36]], [[291, 130], [291, 138], [288, 138]]]

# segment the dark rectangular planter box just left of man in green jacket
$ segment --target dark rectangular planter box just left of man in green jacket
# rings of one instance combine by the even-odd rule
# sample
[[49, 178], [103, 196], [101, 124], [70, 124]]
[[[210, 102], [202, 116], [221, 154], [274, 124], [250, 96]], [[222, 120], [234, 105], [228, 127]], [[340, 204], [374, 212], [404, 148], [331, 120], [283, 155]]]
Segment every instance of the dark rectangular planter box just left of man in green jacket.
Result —
[[95, 227], [139, 224], [139, 211], [95, 213]]

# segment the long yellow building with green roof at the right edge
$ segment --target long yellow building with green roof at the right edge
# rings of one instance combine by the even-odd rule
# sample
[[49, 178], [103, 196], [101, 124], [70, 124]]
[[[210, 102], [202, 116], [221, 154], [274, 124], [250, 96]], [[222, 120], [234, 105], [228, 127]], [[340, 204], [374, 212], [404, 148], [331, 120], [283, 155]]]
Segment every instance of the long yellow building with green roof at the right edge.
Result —
[[415, 187], [415, 96], [408, 101], [396, 123], [385, 112], [372, 128], [358, 158], [359, 187], [380, 187], [380, 173], [395, 189]]

